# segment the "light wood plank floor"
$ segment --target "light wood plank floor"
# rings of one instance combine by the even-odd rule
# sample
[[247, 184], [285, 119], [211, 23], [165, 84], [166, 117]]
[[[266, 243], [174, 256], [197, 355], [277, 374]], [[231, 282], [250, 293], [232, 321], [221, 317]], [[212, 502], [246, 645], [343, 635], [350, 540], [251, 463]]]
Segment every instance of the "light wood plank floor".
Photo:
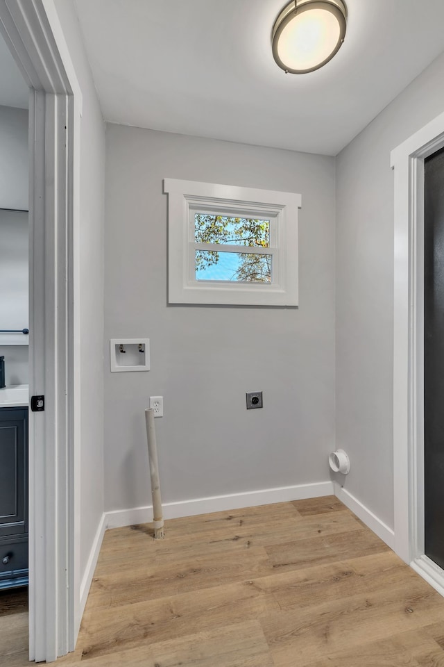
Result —
[[[0, 602], [0, 664], [26, 611]], [[67, 667], [444, 667], [444, 598], [335, 497], [105, 534]]]

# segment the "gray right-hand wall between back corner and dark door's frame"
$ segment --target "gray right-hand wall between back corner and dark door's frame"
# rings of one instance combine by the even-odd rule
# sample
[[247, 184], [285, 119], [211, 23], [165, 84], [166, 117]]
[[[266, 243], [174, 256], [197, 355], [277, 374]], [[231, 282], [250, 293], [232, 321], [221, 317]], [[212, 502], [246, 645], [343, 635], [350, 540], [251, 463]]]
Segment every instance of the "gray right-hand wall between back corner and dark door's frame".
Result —
[[393, 526], [390, 152], [444, 110], [444, 55], [336, 159], [336, 443], [345, 488]]

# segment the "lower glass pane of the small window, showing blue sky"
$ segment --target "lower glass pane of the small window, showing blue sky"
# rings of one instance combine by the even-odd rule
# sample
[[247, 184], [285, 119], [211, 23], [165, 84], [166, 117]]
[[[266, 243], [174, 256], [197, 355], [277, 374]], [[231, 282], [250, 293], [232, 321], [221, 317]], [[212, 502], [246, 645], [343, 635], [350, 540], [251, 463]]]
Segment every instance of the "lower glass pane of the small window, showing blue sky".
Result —
[[196, 250], [196, 280], [271, 283], [271, 255]]

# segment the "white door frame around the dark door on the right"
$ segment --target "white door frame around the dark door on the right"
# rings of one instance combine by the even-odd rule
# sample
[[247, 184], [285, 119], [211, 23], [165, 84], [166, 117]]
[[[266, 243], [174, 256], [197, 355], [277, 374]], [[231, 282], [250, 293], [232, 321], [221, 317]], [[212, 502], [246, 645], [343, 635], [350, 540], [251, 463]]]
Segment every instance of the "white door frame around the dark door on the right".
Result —
[[[395, 176], [393, 459], [395, 552], [441, 593], [424, 557], [424, 160], [444, 113], [391, 152]], [[439, 569], [439, 568], [438, 568]], [[434, 579], [431, 581], [430, 579]], [[441, 583], [440, 583], [441, 579]]]

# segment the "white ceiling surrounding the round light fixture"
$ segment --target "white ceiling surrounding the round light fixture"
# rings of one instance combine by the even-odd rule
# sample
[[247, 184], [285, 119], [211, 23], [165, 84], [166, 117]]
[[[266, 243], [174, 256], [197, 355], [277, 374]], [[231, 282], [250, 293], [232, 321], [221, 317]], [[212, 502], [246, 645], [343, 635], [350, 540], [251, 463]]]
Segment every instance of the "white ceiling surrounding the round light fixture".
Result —
[[285, 0], [76, 0], [105, 120], [335, 155], [444, 50], [443, 0], [347, 0], [339, 53], [284, 74]]

